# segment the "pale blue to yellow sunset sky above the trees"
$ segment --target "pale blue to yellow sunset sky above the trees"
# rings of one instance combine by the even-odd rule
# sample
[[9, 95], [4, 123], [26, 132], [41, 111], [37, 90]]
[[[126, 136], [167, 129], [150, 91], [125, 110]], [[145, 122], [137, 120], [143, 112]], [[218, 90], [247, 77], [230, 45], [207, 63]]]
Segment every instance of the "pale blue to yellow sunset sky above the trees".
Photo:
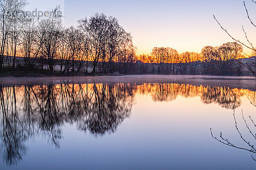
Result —
[[[218, 46], [232, 41], [218, 26], [212, 15], [239, 40], [245, 40], [241, 25], [250, 39], [255, 28], [250, 25], [243, 0], [29, 0], [27, 8], [47, 10], [57, 4], [65, 14], [65, 26], [95, 13], [111, 15], [127, 32], [131, 32], [137, 54], [150, 54], [155, 46], [169, 46], [179, 52], [200, 52], [205, 45]], [[251, 18], [256, 4], [245, 1]], [[244, 52], [251, 50], [244, 48]]]

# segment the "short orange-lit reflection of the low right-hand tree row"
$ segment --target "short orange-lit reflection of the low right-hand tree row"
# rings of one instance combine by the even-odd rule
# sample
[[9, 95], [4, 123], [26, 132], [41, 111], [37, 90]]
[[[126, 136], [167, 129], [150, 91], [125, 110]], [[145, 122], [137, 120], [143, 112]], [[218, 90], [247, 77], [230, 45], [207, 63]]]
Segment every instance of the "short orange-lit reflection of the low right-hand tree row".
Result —
[[235, 109], [241, 105], [241, 96], [244, 95], [241, 89], [228, 87], [195, 86], [185, 84], [143, 84], [137, 87], [140, 94], [151, 94], [154, 102], [169, 102], [177, 96], [185, 98], [200, 96], [202, 102], [218, 103], [223, 108]]

